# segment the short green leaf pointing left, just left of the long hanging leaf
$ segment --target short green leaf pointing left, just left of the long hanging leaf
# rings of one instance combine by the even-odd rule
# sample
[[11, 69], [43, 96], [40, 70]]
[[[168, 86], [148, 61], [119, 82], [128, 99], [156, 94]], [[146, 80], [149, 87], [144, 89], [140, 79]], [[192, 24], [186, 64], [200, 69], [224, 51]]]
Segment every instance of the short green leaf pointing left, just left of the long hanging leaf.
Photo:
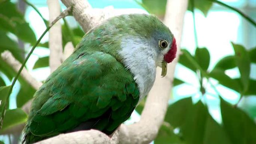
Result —
[[217, 62], [217, 64], [215, 65], [215, 67], [213, 69], [219, 68], [222, 70], [228, 70], [228, 69], [234, 68], [236, 66], [237, 65], [235, 64], [235, 56], [230, 55], [230, 56], [226, 56], [226, 57], [220, 59], [220, 61]]

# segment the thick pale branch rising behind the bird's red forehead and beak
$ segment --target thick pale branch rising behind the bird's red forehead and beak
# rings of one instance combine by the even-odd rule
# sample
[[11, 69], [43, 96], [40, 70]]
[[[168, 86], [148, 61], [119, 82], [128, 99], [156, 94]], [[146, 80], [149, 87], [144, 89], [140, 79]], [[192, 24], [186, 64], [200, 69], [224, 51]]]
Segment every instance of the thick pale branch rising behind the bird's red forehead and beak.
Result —
[[[122, 144], [148, 144], [150, 141], [154, 140], [158, 134], [158, 130], [164, 121], [174, 79], [174, 70], [179, 59], [183, 18], [187, 6], [188, 0], [167, 1], [167, 12], [165, 14], [164, 23], [176, 37], [178, 46], [177, 58], [171, 64], [168, 64], [168, 73], [164, 78], [161, 78], [161, 68], [157, 68], [156, 80], [147, 96], [146, 105], [141, 114], [140, 121], [126, 126], [126, 129], [124, 125], [121, 126], [120, 139]], [[127, 132], [123, 132], [124, 130], [128, 131], [128, 135]], [[125, 135], [122, 137], [122, 134]]]

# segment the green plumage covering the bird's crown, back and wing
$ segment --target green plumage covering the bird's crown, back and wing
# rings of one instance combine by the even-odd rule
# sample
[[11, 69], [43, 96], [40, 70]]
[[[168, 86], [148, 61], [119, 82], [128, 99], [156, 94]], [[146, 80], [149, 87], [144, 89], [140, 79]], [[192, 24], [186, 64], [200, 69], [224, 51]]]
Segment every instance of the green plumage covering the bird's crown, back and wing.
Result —
[[34, 94], [24, 142], [77, 131], [83, 124], [83, 129], [115, 131], [129, 118], [140, 95], [118, 54], [121, 37], [151, 37], [157, 28], [170, 31], [161, 25], [155, 16], [122, 15], [89, 31]]

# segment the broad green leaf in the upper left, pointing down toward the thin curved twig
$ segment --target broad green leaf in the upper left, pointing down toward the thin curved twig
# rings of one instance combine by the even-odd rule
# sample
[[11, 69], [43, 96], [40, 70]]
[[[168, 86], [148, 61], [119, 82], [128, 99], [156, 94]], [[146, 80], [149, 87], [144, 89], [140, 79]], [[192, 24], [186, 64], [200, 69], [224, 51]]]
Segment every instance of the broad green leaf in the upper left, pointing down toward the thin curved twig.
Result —
[[31, 45], [36, 43], [36, 35], [27, 22], [16, 23], [16, 36]]

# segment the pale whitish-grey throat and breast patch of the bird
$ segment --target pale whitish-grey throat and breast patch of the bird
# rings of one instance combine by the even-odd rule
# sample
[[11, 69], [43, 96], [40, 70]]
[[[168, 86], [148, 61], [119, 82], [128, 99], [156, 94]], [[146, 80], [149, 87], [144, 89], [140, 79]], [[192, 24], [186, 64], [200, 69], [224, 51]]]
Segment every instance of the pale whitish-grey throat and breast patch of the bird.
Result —
[[[156, 53], [142, 39], [126, 38], [121, 42], [119, 54], [124, 58], [123, 64], [134, 75], [134, 80], [140, 91], [140, 100], [152, 88], [156, 77]], [[144, 50], [147, 49], [147, 50]]]

